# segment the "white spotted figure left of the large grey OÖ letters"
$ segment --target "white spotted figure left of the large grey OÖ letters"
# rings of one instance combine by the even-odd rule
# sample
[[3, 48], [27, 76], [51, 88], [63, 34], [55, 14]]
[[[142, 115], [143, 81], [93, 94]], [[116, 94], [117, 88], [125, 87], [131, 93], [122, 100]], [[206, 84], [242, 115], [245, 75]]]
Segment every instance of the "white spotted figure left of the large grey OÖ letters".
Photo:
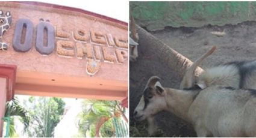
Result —
[[[6, 32], [11, 25], [11, 13], [7, 11], [5, 14], [2, 10], [0, 10], [0, 40], [4, 32]], [[0, 50], [7, 50], [8, 44], [4, 42], [0, 42]]]

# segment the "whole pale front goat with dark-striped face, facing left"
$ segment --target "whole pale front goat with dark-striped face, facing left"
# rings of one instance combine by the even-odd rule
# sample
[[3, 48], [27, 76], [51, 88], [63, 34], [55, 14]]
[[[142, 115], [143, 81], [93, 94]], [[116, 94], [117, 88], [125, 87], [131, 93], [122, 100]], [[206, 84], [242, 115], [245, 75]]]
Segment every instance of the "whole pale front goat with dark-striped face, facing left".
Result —
[[149, 134], [154, 116], [167, 110], [189, 122], [198, 137], [255, 137], [256, 90], [209, 86], [205, 89], [164, 88], [153, 76], [134, 110], [137, 121], [148, 119]]

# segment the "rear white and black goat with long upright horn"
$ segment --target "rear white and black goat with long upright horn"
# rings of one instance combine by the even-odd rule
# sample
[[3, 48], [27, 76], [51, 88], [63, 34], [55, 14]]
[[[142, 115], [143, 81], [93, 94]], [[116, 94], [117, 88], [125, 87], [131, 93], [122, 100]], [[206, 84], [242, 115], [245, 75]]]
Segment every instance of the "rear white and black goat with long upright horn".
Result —
[[213, 46], [207, 53], [198, 58], [186, 71], [180, 84], [180, 89], [192, 88], [198, 85], [204, 89], [208, 86], [227, 86], [236, 89], [256, 89], [256, 61], [229, 62], [208, 68], [199, 74], [195, 80], [194, 72], [196, 67], [204, 58], [211, 55], [216, 49]]

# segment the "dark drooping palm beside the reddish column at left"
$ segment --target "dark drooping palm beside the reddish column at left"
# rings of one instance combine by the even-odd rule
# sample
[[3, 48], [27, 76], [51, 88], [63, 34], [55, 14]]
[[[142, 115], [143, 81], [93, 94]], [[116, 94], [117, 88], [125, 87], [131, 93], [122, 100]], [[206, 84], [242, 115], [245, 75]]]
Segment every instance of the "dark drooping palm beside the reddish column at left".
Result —
[[24, 125], [23, 133], [25, 133], [30, 125], [30, 117], [28, 116], [28, 111], [24, 107], [20, 106], [20, 103], [16, 98], [5, 104], [5, 119], [10, 119], [8, 120], [10, 121], [10, 125], [7, 128], [7, 131], [9, 132], [7, 136], [10, 135], [10, 137], [16, 134], [16, 130], [14, 128], [14, 116], [19, 116], [20, 121]]

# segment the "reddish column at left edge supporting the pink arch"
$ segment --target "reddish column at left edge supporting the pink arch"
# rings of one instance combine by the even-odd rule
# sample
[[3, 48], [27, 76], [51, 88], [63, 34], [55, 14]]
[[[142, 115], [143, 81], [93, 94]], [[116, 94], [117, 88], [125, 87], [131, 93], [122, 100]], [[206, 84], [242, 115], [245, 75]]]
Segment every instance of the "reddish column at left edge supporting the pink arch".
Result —
[[0, 64], [0, 137], [2, 137], [2, 125], [5, 114], [5, 103], [14, 96], [16, 80], [16, 65]]

